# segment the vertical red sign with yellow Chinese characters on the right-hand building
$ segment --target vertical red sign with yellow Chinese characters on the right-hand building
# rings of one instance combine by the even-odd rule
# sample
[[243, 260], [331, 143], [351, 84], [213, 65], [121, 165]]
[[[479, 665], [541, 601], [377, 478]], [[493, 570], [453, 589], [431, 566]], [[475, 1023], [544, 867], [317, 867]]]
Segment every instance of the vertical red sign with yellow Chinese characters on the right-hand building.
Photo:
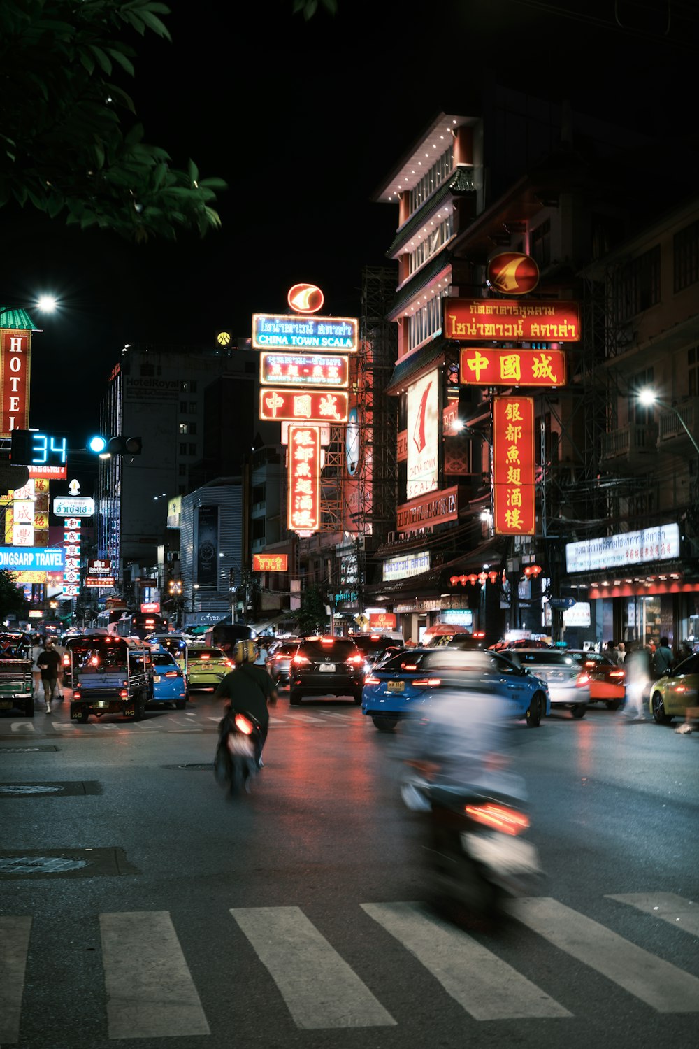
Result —
[[493, 399], [494, 524], [498, 535], [534, 535], [534, 406], [529, 397]]

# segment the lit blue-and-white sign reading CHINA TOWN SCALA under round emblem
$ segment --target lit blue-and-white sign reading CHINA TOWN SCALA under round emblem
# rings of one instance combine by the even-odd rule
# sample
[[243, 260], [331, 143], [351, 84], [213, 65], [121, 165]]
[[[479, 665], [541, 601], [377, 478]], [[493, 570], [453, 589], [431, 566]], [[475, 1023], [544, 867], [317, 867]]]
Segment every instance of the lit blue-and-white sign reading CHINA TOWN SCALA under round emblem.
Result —
[[309, 317], [254, 314], [254, 349], [342, 350], [355, 352], [359, 335], [356, 317]]

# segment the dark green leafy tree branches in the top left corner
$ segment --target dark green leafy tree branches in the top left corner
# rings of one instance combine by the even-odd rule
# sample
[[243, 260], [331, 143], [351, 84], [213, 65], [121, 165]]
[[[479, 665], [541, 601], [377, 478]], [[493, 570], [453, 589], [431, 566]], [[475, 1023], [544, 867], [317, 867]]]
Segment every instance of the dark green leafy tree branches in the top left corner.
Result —
[[0, 207], [16, 200], [81, 229], [144, 241], [220, 226], [220, 178], [172, 167], [144, 140], [131, 98], [147, 31], [166, 40], [157, 0], [3, 0], [0, 4]]

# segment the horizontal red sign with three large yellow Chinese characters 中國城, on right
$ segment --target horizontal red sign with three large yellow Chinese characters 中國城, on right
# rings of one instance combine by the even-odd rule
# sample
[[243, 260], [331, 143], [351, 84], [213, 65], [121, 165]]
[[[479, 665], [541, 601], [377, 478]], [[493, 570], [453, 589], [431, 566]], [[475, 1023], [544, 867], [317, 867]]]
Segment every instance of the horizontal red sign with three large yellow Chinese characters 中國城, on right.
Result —
[[460, 354], [459, 380], [468, 386], [563, 386], [562, 349], [494, 349], [469, 346]]

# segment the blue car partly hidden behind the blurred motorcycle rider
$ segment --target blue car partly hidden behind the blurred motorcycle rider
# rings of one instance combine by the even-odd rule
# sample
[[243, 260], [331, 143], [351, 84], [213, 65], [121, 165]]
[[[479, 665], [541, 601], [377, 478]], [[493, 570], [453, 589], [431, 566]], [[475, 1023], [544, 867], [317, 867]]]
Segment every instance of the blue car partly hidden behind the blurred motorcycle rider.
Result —
[[545, 681], [498, 652], [412, 648], [374, 666], [365, 678], [362, 713], [390, 731], [401, 718], [420, 713], [440, 688], [493, 689], [508, 701], [515, 719], [538, 728], [551, 710]]

